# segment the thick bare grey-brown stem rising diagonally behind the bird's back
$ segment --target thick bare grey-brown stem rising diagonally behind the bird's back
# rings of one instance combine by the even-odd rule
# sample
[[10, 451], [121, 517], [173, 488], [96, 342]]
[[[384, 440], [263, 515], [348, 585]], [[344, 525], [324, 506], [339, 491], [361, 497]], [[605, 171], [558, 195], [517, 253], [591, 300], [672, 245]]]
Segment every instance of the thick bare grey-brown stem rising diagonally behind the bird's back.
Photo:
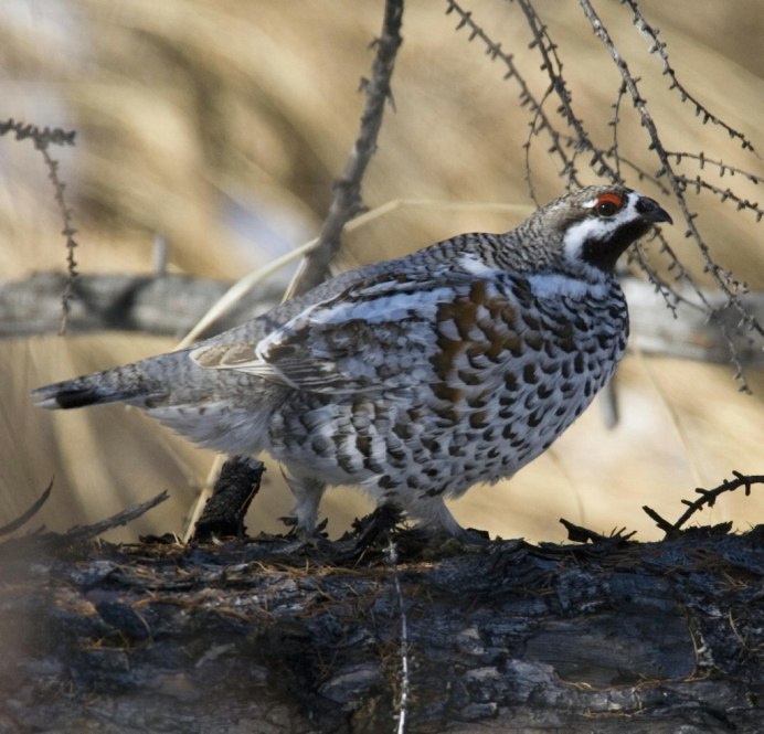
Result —
[[382, 126], [384, 106], [392, 99], [390, 79], [402, 43], [402, 20], [403, 0], [386, 0], [382, 33], [375, 41], [376, 56], [371, 79], [361, 82], [367, 102], [358, 138], [342, 175], [335, 182], [335, 195], [321, 227], [318, 245], [303, 260], [285, 298], [304, 294], [326, 279], [331, 260], [340, 248], [342, 227], [362, 209], [361, 181], [376, 150], [376, 137]]

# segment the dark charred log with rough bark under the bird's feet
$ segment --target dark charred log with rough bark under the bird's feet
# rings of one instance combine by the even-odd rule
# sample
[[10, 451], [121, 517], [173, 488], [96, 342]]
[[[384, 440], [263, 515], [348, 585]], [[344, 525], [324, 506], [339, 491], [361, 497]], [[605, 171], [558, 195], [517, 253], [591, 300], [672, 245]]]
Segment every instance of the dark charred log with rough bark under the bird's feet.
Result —
[[0, 732], [762, 731], [764, 526], [395, 543], [7, 541]]

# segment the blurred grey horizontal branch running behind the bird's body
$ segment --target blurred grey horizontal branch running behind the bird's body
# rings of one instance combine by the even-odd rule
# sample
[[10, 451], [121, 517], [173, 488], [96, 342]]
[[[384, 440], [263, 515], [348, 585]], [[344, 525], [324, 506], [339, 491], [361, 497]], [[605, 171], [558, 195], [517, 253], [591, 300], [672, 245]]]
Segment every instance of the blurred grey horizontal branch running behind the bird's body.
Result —
[[[61, 319], [61, 289], [65, 276], [39, 273], [26, 280], [0, 283], [0, 338], [53, 333]], [[740, 318], [722, 294], [703, 291], [714, 312], [691, 306], [694, 290], [679, 291], [676, 317], [666, 310], [652, 284], [624, 278], [630, 305], [633, 347], [649, 354], [725, 363], [730, 361], [728, 337], [732, 333], [741, 362], [764, 365], [764, 343], [756, 334], [734, 332]], [[177, 336], [187, 332], [227, 289], [229, 284], [189, 276], [79, 275], [74, 281], [70, 331], [141, 331]], [[280, 299], [277, 285], [265, 284], [250, 294], [233, 311], [215, 322], [208, 334], [232, 328], [263, 313]], [[742, 297], [746, 310], [764, 320], [764, 292]]]

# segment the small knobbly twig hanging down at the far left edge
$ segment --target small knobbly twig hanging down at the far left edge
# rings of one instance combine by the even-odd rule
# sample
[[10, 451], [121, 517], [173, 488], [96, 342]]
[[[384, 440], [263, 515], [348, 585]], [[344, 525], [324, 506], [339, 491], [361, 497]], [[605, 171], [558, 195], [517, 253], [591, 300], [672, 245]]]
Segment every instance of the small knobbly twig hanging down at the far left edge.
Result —
[[72, 300], [74, 290], [74, 279], [77, 277], [77, 263], [74, 257], [74, 249], [77, 247], [74, 235], [77, 231], [73, 226], [72, 210], [66, 204], [66, 199], [64, 198], [66, 184], [59, 178], [59, 161], [53, 159], [47, 148], [51, 145], [73, 146], [76, 132], [74, 130], [62, 130], [61, 128], [51, 129], [49, 127], [41, 130], [36, 125], [24, 125], [13, 119], [0, 123], [0, 136], [6, 135], [9, 130], [15, 132], [17, 140], [31, 138], [34, 141], [34, 147], [40, 151], [47, 167], [47, 178], [51, 180], [51, 183], [53, 183], [55, 202], [63, 217], [64, 227], [61, 234], [66, 238], [66, 270], [68, 274], [66, 284], [64, 285], [64, 292], [61, 296], [62, 317], [59, 333], [63, 334], [66, 331], [68, 321], [71, 310], [70, 301]]

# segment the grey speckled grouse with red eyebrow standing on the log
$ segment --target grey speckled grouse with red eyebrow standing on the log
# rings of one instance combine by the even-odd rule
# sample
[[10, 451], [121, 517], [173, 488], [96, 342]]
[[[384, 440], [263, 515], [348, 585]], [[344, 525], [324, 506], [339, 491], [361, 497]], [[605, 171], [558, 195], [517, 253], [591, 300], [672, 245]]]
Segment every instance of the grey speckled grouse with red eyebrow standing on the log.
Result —
[[620, 187], [562, 196], [333, 278], [190, 349], [49, 385], [45, 407], [123, 401], [205, 446], [283, 462], [311, 531], [357, 485], [453, 534], [444, 504], [513, 475], [609, 380], [628, 315], [613, 268], [669, 215]]

